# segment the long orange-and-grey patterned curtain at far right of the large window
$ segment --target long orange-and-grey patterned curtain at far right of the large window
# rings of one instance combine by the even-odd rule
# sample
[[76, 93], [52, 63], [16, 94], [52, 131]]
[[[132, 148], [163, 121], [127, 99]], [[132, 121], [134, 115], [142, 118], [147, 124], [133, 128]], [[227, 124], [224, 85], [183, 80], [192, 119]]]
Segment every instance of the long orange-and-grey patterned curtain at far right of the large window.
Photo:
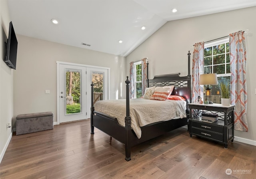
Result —
[[229, 34], [230, 45], [230, 102], [235, 107], [234, 129], [248, 132], [246, 119], [246, 48], [244, 32]]

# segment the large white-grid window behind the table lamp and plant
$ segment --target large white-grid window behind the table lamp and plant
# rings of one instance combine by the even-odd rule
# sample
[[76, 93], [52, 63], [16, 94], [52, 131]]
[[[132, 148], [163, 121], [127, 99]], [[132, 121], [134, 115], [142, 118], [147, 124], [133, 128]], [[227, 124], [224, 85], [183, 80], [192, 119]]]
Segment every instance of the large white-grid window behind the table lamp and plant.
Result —
[[[204, 44], [204, 74], [216, 73], [218, 82], [230, 83], [229, 40], [225, 38]], [[204, 93], [205, 93], [204, 86]], [[221, 103], [220, 88], [212, 86], [211, 101]]]

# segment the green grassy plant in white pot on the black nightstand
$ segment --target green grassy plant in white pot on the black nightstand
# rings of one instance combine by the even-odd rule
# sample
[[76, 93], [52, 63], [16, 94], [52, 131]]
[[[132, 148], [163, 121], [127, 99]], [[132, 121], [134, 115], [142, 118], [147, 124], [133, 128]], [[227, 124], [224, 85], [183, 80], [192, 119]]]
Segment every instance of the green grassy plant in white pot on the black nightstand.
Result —
[[230, 105], [230, 95], [229, 88], [230, 82], [226, 79], [222, 79], [219, 82], [220, 94], [221, 94], [221, 104], [222, 105]]

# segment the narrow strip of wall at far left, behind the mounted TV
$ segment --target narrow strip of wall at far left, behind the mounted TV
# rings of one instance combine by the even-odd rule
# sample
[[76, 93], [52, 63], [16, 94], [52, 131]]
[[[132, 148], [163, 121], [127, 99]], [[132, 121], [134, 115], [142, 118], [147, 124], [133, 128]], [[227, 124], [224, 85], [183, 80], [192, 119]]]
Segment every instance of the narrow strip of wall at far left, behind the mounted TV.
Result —
[[4, 41], [8, 37], [10, 15], [7, 0], [0, 1], [0, 162], [12, 137], [12, 128], [7, 128], [7, 123], [12, 123], [13, 117], [13, 70], [3, 61], [5, 58]]

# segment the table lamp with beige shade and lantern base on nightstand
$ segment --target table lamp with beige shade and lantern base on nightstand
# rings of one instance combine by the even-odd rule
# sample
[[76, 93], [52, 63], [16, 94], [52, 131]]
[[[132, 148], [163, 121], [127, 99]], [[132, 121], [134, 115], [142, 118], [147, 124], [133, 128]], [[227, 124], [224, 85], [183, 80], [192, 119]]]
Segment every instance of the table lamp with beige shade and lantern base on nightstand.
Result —
[[209, 97], [209, 100], [211, 100], [211, 88], [209, 85], [217, 85], [217, 74], [202, 74], [200, 75], [199, 79], [199, 85], [207, 85], [206, 86], [206, 97], [205, 97], [205, 103], [213, 104], [212, 101], [208, 101], [207, 98]]

